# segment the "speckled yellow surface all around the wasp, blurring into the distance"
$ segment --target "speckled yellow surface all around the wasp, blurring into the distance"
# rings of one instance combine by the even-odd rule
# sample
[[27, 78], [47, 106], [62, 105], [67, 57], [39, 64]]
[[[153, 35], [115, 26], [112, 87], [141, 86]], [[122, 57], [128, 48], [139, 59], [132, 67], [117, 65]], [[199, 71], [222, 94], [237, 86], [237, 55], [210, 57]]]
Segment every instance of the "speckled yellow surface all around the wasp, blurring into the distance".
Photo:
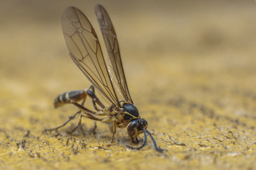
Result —
[[255, 168], [255, 2], [147, 2], [104, 6], [134, 104], [166, 152], [154, 151], [150, 140], [140, 151], [129, 150], [125, 129], [117, 129], [109, 145], [108, 125], [97, 122], [93, 134], [94, 122], [85, 118], [85, 136], [67, 133], [77, 119], [43, 133], [77, 111], [55, 110], [53, 99], [90, 86], [68, 57], [62, 11], [77, 6], [100, 36], [97, 2], [13, 1], [1, 5], [1, 169]]

